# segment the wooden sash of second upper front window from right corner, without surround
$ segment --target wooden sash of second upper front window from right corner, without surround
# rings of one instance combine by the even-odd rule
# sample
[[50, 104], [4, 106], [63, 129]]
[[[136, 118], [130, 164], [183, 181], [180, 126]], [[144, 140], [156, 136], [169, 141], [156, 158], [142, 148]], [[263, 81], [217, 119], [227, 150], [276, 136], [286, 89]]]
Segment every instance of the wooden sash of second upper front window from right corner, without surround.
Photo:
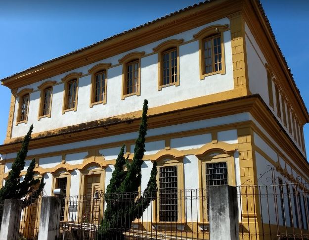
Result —
[[167, 50], [163, 54], [163, 85], [177, 82], [177, 48]]

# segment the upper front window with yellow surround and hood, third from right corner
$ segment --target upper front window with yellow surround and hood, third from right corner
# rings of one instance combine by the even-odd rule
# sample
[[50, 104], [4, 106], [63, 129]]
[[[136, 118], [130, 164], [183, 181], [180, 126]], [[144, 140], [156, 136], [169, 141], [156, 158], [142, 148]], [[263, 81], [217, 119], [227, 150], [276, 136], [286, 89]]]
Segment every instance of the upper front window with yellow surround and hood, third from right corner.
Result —
[[131, 52], [118, 61], [123, 64], [122, 97], [140, 95], [140, 58], [145, 54], [142, 52]]

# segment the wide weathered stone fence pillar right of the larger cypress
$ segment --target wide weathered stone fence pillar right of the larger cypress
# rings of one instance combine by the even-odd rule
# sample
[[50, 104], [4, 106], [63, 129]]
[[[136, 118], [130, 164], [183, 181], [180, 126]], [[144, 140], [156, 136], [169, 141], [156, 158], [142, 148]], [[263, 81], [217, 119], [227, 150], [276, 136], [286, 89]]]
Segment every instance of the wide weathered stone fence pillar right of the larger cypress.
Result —
[[237, 189], [227, 185], [208, 188], [210, 239], [238, 240]]

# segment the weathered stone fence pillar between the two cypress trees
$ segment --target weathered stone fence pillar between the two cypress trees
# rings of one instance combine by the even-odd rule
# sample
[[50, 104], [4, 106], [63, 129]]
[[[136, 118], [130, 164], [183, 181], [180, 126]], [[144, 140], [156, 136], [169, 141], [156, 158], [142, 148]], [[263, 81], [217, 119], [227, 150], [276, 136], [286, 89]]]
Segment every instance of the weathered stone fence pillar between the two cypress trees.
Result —
[[59, 237], [61, 198], [42, 197], [38, 240], [55, 240]]

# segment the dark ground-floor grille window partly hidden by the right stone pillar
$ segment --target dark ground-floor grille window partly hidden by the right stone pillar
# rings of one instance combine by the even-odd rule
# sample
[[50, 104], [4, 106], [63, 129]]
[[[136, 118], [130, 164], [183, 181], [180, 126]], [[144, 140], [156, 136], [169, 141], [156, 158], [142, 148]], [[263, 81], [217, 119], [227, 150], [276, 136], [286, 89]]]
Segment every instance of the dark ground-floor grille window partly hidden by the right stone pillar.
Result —
[[216, 162], [206, 164], [206, 194], [207, 194], [207, 213], [209, 216], [208, 187], [227, 185], [227, 164], [226, 162]]

